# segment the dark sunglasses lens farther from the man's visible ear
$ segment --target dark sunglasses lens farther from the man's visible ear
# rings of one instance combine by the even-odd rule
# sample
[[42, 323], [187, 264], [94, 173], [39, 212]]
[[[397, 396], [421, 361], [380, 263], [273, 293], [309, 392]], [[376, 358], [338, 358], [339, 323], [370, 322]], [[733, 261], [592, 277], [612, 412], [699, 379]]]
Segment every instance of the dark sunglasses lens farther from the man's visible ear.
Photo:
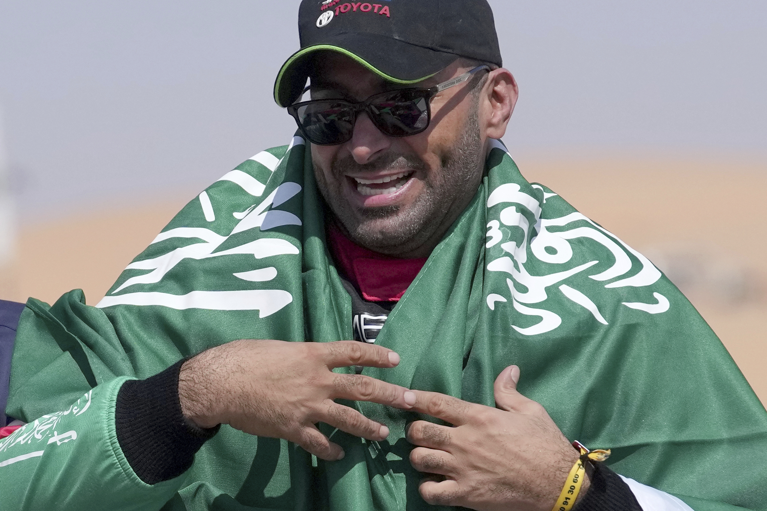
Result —
[[351, 139], [354, 131], [354, 108], [350, 104], [313, 101], [295, 109], [298, 124], [310, 142], [332, 146]]

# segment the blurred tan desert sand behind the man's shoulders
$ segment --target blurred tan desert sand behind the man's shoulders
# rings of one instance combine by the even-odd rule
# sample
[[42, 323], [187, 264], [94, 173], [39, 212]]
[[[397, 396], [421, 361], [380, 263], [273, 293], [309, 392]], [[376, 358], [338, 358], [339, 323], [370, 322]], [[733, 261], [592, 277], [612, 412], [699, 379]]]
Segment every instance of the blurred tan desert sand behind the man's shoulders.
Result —
[[[518, 161], [584, 215], [650, 257], [690, 298], [767, 402], [767, 164], [682, 158], [528, 156]], [[97, 303], [194, 190], [90, 205], [21, 228], [0, 298]]]

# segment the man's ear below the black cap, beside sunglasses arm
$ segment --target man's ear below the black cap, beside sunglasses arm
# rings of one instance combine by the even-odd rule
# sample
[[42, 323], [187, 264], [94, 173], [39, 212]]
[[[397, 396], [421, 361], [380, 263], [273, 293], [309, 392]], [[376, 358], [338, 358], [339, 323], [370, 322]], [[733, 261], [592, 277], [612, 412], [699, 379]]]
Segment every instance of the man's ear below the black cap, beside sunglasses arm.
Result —
[[481, 126], [490, 139], [500, 139], [512, 117], [519, 90], [511, 71], [500, 67], [490, 71], [480, 97]]

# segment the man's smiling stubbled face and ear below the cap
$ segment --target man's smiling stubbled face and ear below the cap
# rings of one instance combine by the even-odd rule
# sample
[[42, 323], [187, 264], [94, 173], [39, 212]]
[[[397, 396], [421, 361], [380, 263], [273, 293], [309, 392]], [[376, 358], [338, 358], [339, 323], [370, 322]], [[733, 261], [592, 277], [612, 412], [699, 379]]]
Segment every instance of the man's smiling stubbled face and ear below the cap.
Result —
[[[318, 188], [345, 234], [360, 246], [397, 257], [427, 257], [472, 200], [466, 190], [479, 186], [477, 169], [484, 166], [487, 138], [505, 128], [516, 84], [508, 72], [497, 73], [500, 83], [493, 93], [499, 109], [488, 113], [494, 133], [486, 133], [479, 128], [481, 89], [476, 85], [489, 67], [465, 61], [438, 70], [415, 89], [393, 87], [344, 54], [313, 55], [312, 99], [289, 107], [306, 136], [311, 137], [311, 123], [323, 109], [345, 101], [370, 105], [357, 119], [350, 114], [343, 137], [318, 140], [312, 156]], [[454, 77], [461, 80], [453, 87], [430, 90]], [[391, 105], [404, 110], [397, 112], [403, 119], [384, 113]], [[403, 129], [404, 119], [415, 126]], [[385, 136], [387, 128], [392, 136]]]

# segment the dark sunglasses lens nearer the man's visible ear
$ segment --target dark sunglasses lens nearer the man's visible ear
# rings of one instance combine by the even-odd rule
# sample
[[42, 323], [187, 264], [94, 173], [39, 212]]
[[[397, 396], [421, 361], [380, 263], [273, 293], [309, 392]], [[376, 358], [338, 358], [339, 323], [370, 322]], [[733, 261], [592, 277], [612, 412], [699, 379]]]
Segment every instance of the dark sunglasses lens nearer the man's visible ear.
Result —
[[370, 101], [371, 119], [390, 136], [421, 133], [429, 126], [429, 97], [426, 90], [395, 90]]

